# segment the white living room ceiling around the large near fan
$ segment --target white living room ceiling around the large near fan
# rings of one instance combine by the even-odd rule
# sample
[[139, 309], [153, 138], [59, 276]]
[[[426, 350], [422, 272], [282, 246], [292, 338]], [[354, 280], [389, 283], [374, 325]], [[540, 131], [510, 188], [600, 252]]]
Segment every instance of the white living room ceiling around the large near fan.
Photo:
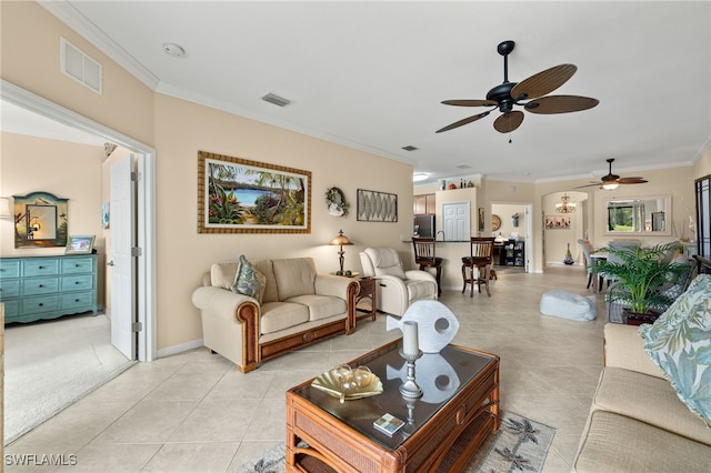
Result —
[[[711, 142], [709, 1], [40, 3], [157, 92], [411, 162], [430, 180], [587, 181], [608, 158], [640, 174], [691, 164]], [[600, 104], [527, 112], [511, 137], [493, 129], [497, 112], [435, 134], [483, 111], [440, 102], [501, 83], [508, 39], [509, 80], [573, 63], [553, 93]]]

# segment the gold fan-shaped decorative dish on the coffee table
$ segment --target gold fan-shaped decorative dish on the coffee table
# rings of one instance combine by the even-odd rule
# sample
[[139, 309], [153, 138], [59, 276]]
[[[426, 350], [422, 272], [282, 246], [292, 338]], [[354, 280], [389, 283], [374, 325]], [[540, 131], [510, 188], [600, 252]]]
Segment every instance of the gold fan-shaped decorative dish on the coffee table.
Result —
[[311, 385], [338, 397], [341, 403], [382, 393], [380, 379], [368, 366], [351, 370], [350, 366], [342, 364], [320, 374]]

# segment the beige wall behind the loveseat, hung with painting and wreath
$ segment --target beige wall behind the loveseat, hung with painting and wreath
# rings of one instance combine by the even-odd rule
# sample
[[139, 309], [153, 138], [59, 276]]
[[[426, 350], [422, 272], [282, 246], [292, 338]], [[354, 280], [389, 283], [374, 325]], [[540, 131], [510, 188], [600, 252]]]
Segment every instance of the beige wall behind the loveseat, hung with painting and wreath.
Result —
[[[346, 269], [361, 271], [358, 252], [388, 245], [408, 252], [400, 234], [412, 231], [412, 167], [270, 127], [253, 120], [164, 95], [156, 97], [158, 229], [158, 345], [199, 339], [198, 311], [190, 294], [217, 261], [312, 256], [323, 272], [338, 270], [336, 246], [343, 230]], [[311, 171], [310, 234], [199, 234], [198, 151]], [[326, 191], [340, 188], [350, 202], [346, 218], [331, 217]], [[358, 222], [356, 191], [398, 194], [398, 223]]]

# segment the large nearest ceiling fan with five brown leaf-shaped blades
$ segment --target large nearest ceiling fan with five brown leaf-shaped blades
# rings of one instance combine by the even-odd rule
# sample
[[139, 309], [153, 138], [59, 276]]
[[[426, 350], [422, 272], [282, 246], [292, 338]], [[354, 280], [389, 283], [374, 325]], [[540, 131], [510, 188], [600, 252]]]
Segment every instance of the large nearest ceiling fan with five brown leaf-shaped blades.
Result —
[[503, 56], [503, 83], [494, 87], [487, 93], [485, 100], [444, 100], [445, 105], [454, 107], [491, 107], [475, 115], [459, 120], [452, 124], [437, 130], [437, 133], [452, 130], [463, 124], [471, 123], [487, 117], [497, 108], [501, 115], [493, 122], [493, 128], [500, 133], [509, 133], [518, 129], [523, 122], [523, 112], [513, 110], [514, 105], [523, 107], [531, 113], [552, 114], [569, 113], [588, 110], [600, 101], [580, 95], [548, 95], [573, 77], [578, 68], [574, 64], [560, 64], [531, 76], [521, 82], [509, 82], [509, 54], [513, 51], [515, 42], [503, 41], [497, 48]]

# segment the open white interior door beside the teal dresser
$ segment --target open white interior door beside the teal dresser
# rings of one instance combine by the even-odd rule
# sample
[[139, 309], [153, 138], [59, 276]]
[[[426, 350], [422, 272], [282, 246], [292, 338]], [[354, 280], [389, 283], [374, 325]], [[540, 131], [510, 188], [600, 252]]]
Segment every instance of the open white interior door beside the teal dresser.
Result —
[[136, 191], [132, 154], [111, 164], [111, 343], [129, 360], [136, 360]]

